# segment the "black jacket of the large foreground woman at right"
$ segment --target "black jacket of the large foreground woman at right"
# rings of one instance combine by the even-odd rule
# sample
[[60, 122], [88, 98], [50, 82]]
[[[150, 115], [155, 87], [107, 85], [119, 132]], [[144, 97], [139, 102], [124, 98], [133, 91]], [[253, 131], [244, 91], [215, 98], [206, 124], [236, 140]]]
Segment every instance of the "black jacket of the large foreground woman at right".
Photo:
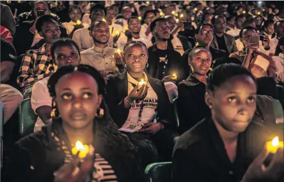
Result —
[[252, 121], [238, 135], [236, 158], [232, 163], [213, 119], [205, 118], [183, 133], [175, 144], [175, 181], [239, 182], [254, 158], [263, 150], [265, 142], [276, 135], [282, 140], [283, 128], [266, 127]]

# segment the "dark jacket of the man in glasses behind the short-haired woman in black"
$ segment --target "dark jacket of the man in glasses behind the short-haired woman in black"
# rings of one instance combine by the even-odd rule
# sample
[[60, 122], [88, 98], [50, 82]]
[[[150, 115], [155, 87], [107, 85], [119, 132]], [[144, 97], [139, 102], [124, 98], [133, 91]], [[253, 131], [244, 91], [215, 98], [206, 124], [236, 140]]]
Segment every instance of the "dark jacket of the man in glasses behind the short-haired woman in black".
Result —
[[[183, 53], [183, 60], [184, 60], [184, 71], [185, 71], [185, 75], [189, 76], [190, 74], [190, 66], [188, 64], [188, 54], [193, 50], [193, 48], [189, 48], [187, 49], [184, 53]], [[217, 49], [217, 48], [213, 48], [212, 46], [210, 46], [210, 52], [212, 54], [212, 61], [216, 60], [217, 58], [220, 57], [229, 57], [229, 54], [225, 51], [225, 50], [221, 50], [221, 49]], [[213, 63], [212, 63], [213, 64]]]

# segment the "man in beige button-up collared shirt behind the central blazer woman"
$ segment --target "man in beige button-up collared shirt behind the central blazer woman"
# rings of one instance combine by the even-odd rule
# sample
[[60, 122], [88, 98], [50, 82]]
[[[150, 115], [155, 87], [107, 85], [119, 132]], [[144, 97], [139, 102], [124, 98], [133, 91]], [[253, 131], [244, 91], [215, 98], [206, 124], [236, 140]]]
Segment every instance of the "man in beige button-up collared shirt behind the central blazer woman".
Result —
[[108, 45], [110, 32], [107, 23], [102, 20], [93, 22], [89, 35], [94, 44], [93, 47], [81, 52], [82, 63], [95, 67], [106, 79], [109, 74], [123, 72], [122, 52]]

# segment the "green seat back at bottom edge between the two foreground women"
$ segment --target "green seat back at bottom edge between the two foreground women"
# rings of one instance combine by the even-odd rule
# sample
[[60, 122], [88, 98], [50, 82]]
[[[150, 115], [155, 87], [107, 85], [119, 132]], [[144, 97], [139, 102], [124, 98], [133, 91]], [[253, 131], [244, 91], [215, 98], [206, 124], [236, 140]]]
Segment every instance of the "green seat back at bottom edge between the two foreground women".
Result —
[[172, 162], [157, 162], [147, 165], [145, 169], [146, 175], [151, 182], [173, 182], [173, 166]]

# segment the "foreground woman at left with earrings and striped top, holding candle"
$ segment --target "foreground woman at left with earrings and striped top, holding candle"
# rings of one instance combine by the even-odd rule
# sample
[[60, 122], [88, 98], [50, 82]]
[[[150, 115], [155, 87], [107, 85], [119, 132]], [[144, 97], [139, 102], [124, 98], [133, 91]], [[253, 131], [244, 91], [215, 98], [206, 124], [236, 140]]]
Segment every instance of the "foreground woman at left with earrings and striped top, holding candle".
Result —
[[[135, 146], [109, 115], [105, 82], [95, 68], [63, 66], [48, 89], [52, 123], [15, 143], [9, 181], [144, 181]], [[89, 147], [82, 161], [72, 154], [75, 144], [81, 151]]]

